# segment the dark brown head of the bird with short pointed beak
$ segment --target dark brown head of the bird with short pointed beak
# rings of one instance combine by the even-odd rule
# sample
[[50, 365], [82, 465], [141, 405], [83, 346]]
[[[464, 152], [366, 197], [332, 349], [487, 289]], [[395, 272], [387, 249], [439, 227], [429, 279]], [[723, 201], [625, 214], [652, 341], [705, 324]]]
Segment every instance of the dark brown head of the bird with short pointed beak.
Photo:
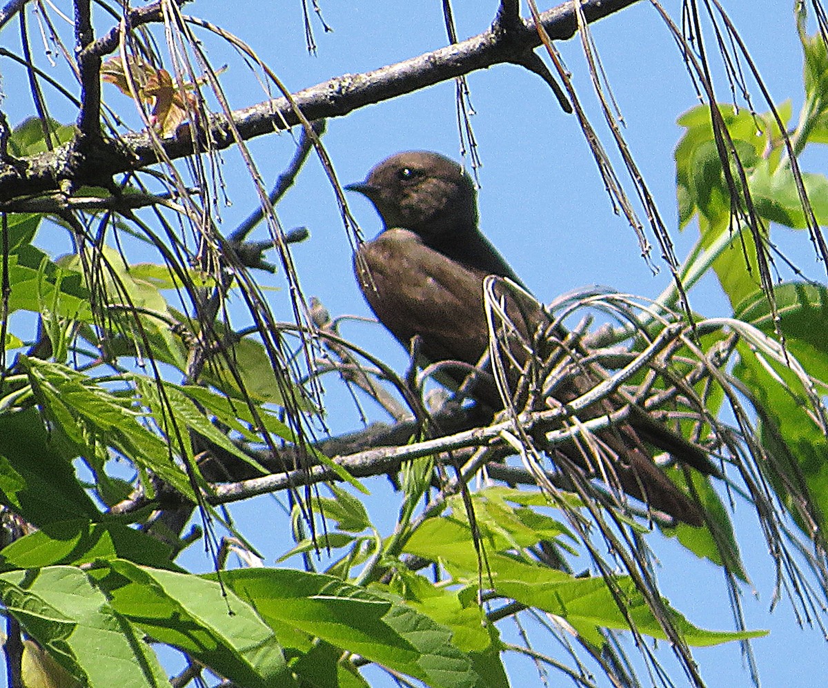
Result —
[[474, 182], [455, 161], [438, 153], [397, 153], [345, 189], [367, 196], [385, 229], [410, 229], [426, 244], [477, 228]]

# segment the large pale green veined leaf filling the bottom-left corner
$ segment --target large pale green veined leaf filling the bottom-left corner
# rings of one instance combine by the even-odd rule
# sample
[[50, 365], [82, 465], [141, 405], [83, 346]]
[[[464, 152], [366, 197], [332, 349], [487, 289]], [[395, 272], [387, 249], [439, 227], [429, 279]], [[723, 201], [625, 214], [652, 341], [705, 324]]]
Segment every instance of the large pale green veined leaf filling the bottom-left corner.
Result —
[[89, 688], [169, 686], [155, 653], [72, 566], [0, 574], [8, 611], [60, 666]]

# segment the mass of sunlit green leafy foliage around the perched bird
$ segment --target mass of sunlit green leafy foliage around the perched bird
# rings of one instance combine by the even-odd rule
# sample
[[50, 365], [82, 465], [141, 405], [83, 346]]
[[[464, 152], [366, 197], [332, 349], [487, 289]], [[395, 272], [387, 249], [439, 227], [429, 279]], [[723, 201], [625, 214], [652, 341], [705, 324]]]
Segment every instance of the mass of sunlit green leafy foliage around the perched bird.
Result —
[[[791, 103], [768, 113], [717, 105], [732, 142], [724, 156], [729, 175], [710, 108], [679, 119], [679, 221], [686, 229], [696, 220], [700, 231], [679, 269], [681, 284], [689, 290], [712, 271], [729, 317], [689, 321], [677, 312], [676, 286], [653, 303], [594, 293], [555, 309], [570, 318], [603, 310], [614, 319], [598, 335], [609, 341], [599, 344], [623, 344], [626, 358], [618, 346], [609, 350], [607, 358], [623, 363], [603, 384], [658, 406], [686, 437], [715, 452], [728, 488], [756, 506], [774, 551], [792, 561], [778, 536], [786, 531], [792, 548], [805, 552], [797, 555], [806, 566], [794, 567], [793, 587], [807, 580], [826, 590], [828, 290], [787, 281], [768, 295], [757, 277], [758, 262], [770, 255], [772, 224], [802, 232], [812, 228], [811, 217], [828, 222], [828, 179], [800, 175], [794, 164], [807, 146], [828, 142], [825, 42], [802, 26], [806, 104], [792, 132]], [[152, 60], [125, 70], [122, 58], [107, 63], [103, 79], [148, 105], [145, 120], [161, 137], [201, 116], [196, 86], [204, 79], [176, 80]], [[34, 156], [50, 149], [48, 137], [66, 143], [77, 134], [53, 122], [46, 130], [36, 119], [23, 123], [8, 151]], [[108, 202], [144, 194], [128, 177], [117, 190], [84, 186], [78, 195]], [[734, 189], [730, 178], [744, 187]], [[751, 206], [754, 227], [734, 213], [741, 202], [734, 199]], [[503, 640], [498, 622], [523, 612], [593, 657], [613, 656], [622, 633], [667, 640], [681, 657], [691, 657], [688, 647], [763, 635], [699, 628], [652, 580], [647, 548], [659, 533], [721, 567], [734, 590], [747, 580], [717, 479], [665, 469], [705, 508], [705, 527], [677, 525], [630, 508], [612, 480], [596, 488], [582, 474], [544, 470], [534, 440], [548, 418], [517, 414], [493, 421], [485, 436], [478, 428], [448, 440], [426, 437], [426, 423], [392, 450], [368, 446], [333, 459], [339, 452], [308, 434], [309, 419], [323, 413], [317, 361], [370, 390], [391, 379], [405, 401], [410, 381], [341, 339], [330, 317], [269, 320], [238, 243], [206, 233], [188, 253], [161, 213], [138, 220], [130, 210], [116, 220], [105, 204], [77, 212], [81, 227], [62, 211], [3, 220], [0, 503], [9, 538], [0, 551], [0, 600], [26, 633], [31, 685], [169, 685], [159, 646], [183, 653], [194, 675], [206, 670], [239, 686], [364, 686], [359, 670], [373, 663], [402, 681], [495, 688], [508, 686], [507, 651], [592, 685], [579, 670]], [[97, 222], [122, 233], [128, 225], [159, 250], [159, 262], [130, 264], [117, 242], [100, 242], [103, 231], [89, 230]], [[70, 257], [38, 248], [38, 233], [58, 227], [75, 242]], [[173, 237], [166, 242], [165, 232]], [[219, 318], [230, 296], [250, 305], [247, 330]], [[26, 337], [25, 325], [9, 330], [11, 315], [36, 316], [36, 336]], [[560, 441], [588, 442], [590, 422], [604, 422], [561, 422], [563, 411], [556, 412], [550, 442], [556, 432]], [[515, 471], [503, 485], [472, 490], [470, 478], [486, 460], [509, 449], [532, 486], [517, 488], [509, 479], [522, 475]], [[492, 450], [501, 455], [489, 456]], [[366, 491], [354, 475], [378, 455], [385, 463], [369, 466], [371, 474], [400, 481], [392, 532], [354, 496]], [[226, 474], [211, 468], [216, 457]], [[487, 470], [515, 468], [493, 460]], [[312, 493], [322, 479], [331, 481], [324, 493]], [[291, 495], [296, 546], [282, 557], [291, 563], [265, 567], [223, 506], [276, 489]], [[232, 537], [216, 570], [204, 575], [174, 561], [190, 544], [181, 527], [194, 507], [208, 547], [214, 527]], [[177, 527], [166, 521], [182, 512]], [[787, 532], [789, 518], [800, 532]], [[230, 547], [248, 566], [224, 566]], [[602, 547], [610, 554], [602, 556]], [[321, 573], [292, 563], [320, 552], [327, 556]], [[611, 663], [605, 671], [629, 681]]]

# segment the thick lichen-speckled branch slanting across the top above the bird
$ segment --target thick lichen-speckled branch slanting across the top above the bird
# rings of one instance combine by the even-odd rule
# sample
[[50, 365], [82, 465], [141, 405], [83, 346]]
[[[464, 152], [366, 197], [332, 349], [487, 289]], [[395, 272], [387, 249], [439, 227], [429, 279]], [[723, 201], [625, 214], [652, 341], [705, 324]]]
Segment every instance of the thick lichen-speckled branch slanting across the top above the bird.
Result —
[[[618, 12], [638, 0], [585, 0], [583, 12], [588, 22]], [[575, 34], [576, 19], [571, 2], [555, 7], [541, 15], [541, 21], [551, 38], [565, 40]], [[396, 98], [447, 79], [467, 75], [503, 63], [525, 64], [527, 51], [541, 43], [534, 22], [514, 22], [504, 31], [502, 24], [452, 46], [381, 67], [361, 75], [342, 75], [304, 89], [291, 96], [243, 108], [232, 113], [233, 127], [214, 117], [208, 132], [211, 148], [219, 150], [233, 146], [237, 139], [233, 128], [243, 140], [272, 133], [277, 129], [299, 123], [295, 108], [309, 120], [342, 117], [366, 105]], [[94, 45], [94, 44], [93, 44]], [[291, 103], [292, 101], [292, 103]], [[180, 127], [175, 137], [163, 143], [169, 159], [191, 155], [194, 149], [189, 124]], [[88, 142], [87, 142], [88, 143]], [[58, 188], [59, 180], [74, 184], [95, 184], [124, 171], [140, 169], [158, 161], [152, 137], [146, 132], [130, 134], [119, 140], [117, 146], [101, 145], [89, 150], [79, 149], [73, 142], [55, 151], [22, 161], [19, 166], [0, 165], [0, 201], [17, 195], [31, 195]]]

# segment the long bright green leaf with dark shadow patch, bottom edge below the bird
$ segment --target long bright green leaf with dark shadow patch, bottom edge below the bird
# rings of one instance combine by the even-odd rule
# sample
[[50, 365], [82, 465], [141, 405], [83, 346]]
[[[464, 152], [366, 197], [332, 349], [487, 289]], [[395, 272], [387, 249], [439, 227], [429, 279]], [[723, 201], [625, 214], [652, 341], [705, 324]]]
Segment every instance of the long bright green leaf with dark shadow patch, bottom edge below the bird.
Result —
[[232, 570], [222, 580], [285, 643], [308, 651], [310, 637], [320, 637], [429, 686], [478, 685], [449, 630], [406, 605], [332, 576], [295, 570]]

